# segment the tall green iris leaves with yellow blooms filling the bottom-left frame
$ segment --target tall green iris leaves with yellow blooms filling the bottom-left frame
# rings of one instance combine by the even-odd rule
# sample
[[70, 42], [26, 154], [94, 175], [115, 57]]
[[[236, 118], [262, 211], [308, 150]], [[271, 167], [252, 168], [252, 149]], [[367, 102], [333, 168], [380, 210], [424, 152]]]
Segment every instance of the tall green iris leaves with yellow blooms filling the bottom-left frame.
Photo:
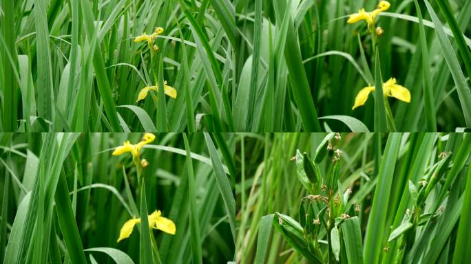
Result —
[[233, 261], [233, 144], [202, 133], [1, 133], [0, 263]]

